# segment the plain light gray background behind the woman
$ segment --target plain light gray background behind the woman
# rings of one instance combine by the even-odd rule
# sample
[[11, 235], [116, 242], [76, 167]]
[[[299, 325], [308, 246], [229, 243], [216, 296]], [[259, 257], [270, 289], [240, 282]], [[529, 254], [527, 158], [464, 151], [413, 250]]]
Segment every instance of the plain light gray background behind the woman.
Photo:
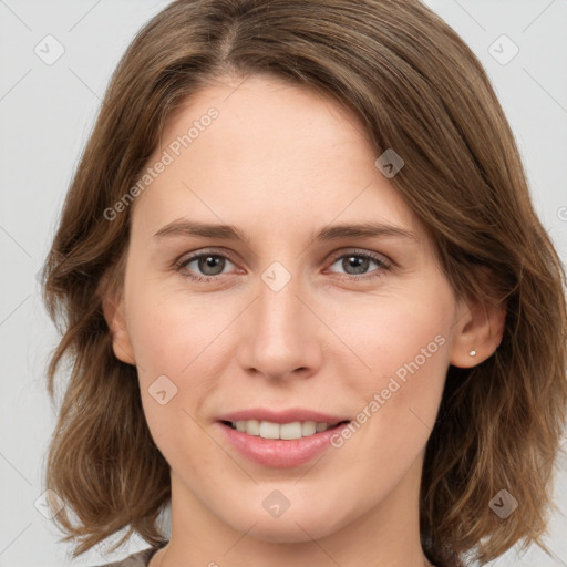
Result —
[[[66, 187], [110, 74], [140, 27], [167, 1], [0, 0], [0, 567], [97, 565], [147, 547], [134, 537], [104, 558], [70, 560], [70, 546], [34, 502], [54, 409], [44, 390], [56, 343], [35, 279]], [[427, 0], [485, 65], [517, 137], [540, 218], [567, 258], [567, 0]], [[45, 35], [63, 55], [48, 65], [34, 52]], [[506, 34], [519, 49], [512, 54]], [[50, 53], [56, 45], [50, 44]], [[491, 49], [489, 47], [493, 45]], [[501, 47], [502, 45], [502, 47]], [[501, 62], [493, 56], [501, 51]], [[47, 56], [47, 53], [45, 53]], [[564, 439], [567, 447], [567, 437]], [[567, 566], [567, 463], [560, 461], [549, 557], [537, 547], [494, 561]], [[167, 525], [167, 517], [165, 519]]]

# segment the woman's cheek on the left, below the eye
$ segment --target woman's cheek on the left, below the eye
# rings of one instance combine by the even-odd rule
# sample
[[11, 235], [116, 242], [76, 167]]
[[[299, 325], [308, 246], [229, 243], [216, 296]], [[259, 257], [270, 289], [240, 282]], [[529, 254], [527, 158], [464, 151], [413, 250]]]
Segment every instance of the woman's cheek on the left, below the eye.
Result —
[[181, 431], [187, 443], [200, 439], [193, 420], [221, 374], [226, 358], [219, 349], [241, 302], [226, 301], [220, 308], [213, 293], [196, 298], [150, 284], [130, 291], [128, 333], [144, 413], [152, 436], [167, 455]]

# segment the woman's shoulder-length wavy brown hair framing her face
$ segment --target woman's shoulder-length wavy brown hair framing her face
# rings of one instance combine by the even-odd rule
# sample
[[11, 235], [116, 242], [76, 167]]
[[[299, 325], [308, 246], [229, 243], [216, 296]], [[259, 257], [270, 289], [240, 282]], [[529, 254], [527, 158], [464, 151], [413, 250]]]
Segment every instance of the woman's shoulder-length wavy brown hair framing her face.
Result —
[[[391, 183], [431, 233], [458, 297], [506, 306], [495, 354], [450, 367], [427, 443], [422, 545], [437, 565], [542, 545], [567, 405], [565, 272], [530, 203], [514, 136], [460, 37], [417, 0], [177, 0], [121, 60], [64, 203], [44, 266], [44, 300], [62, 339], [48, 389], [72, 362], [47, 464], [55, 520], [73, 556], [127, 527], [165, 543], [156, 517], [169, 468], [145, 422], [136, 369], [118, 361], [101, 281], [120, 289], [132, 207], [107, 219], [140, 178], [164, 123], [228, 74], [270, 73], [324, 92], [360, 117]], [[483, 284], [481, 269], [491, 274]], [[505, 520], [501, 489], [519, 503]], [[545, 546], [543, 546], [545, 548]]]

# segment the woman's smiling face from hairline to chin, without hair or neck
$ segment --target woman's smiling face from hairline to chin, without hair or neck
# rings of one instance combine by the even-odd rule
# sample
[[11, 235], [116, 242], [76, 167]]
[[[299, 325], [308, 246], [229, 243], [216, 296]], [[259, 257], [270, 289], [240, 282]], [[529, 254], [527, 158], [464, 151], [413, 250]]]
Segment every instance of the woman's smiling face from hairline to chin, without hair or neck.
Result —
[[467, 319], [378, 157], [337, 103], [274, 79], [203, 90], [168, 122], [131, 205], [115, 353], [138, 369], [174, 514], [303, 542], [416, 509]]

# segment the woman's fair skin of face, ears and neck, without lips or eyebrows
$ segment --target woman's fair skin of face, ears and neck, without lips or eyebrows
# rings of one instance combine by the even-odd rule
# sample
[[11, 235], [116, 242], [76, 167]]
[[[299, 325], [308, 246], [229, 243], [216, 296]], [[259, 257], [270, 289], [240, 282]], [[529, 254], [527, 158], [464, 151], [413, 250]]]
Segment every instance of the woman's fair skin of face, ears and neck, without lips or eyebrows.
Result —
[[[148, 165], [210, 106], [219, 112], [137, 197], [123, 293], [104, 300], [115, 355], [136, 364], [150, 430], [171, 465], [172, 535], [151, 567], [429, 565], [419, 487], [446, 371], [488, 358], [504, 313], [455, 298], [355, 116], [277, 79], [240, 83], [202, 90], [166, 124]], [[154, 236], [182, 217], [235, 225], [247, 241]], [[312, 241], [327, 225], [361, 221], [415, 240]], [[202, 250], [229, 259], [217, 271], [175, 267]], [[391, 268], [371, 260], [357, 272], [348, 261], [357, 250]], [[291, 276], [279, 291], [261, 278], [276, 260]], [[219, 272], [208, 282], [183, 277]], [[220, 435], [221, 413], [251, 406], [355, 420], [436, 336], [445, 339], [436, 352], [322, 458], [266, 467]], [[163, 374], [177, 388], [165, 405], [148, 393]], [[290, 503], [278, 518], [261, 505], [275, 489]]]

